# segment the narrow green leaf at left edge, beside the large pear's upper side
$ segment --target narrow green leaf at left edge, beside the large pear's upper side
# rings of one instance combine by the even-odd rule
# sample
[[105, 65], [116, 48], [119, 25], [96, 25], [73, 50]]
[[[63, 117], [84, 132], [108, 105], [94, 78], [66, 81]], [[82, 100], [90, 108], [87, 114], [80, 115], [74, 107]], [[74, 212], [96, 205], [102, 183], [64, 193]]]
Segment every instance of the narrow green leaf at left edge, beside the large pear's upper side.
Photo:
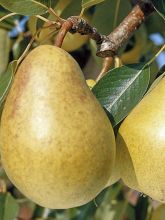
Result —
[[13, 61], [9, 64], [7, 71], [1, 75], [0, 77], [0, 106], [2, 105], [3, 101], [5, 100], [10, 86], [13, 82], [14, 78], [14, 70], [16, 67], [16, 62]]

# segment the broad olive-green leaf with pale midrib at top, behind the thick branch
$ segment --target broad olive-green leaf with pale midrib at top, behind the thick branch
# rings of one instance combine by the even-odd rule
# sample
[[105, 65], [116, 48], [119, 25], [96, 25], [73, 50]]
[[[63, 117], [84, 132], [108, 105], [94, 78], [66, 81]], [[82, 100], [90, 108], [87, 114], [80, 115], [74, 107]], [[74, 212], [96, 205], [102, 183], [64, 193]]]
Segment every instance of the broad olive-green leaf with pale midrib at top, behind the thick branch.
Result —
[[92, 25], [102, 34], [109, 34], [128, 15], [131, 5], [128, 0], [106, 0], [96, 6]]

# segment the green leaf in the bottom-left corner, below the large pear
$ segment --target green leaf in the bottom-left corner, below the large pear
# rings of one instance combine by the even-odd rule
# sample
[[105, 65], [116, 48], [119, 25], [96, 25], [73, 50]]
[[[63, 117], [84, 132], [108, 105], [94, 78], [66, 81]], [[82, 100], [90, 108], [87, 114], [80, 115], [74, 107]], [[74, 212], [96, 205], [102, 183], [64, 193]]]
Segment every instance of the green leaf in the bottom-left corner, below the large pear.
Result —
[[15, 219], [18, 210], [18, 203], [10, 193], [0, 194], [0, 220]]

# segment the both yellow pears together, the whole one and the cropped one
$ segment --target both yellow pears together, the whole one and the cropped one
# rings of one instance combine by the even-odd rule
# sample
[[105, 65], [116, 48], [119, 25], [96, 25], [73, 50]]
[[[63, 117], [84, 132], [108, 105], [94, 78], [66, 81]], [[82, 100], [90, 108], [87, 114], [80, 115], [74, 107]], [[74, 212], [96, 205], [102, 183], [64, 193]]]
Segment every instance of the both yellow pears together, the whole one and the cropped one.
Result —
[[124, 120], [115, 143], [76, 61], [41, 45], [20, 64], [3, 109], [6, 173], [28, 198], [53, 209], [83, 205], [120, 178], [165, 202], [164, 98], [165, 78]]

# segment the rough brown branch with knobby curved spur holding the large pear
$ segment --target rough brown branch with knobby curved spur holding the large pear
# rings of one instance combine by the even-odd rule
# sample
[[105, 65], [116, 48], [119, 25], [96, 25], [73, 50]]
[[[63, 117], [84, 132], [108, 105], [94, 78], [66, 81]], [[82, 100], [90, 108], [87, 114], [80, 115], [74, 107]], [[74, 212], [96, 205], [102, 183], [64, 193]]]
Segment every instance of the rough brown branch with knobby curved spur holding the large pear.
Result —
[[65, 21], [69, 25], [64, 25], [64, 22], [57, 36], [56, 42], [58, 41], [60, 43], [55, 44], [62, 45], [64, 35], [67, 31], [80, 33], [82, 35], [88, 35], [91, 39], [96, 41], [97, 56], [102, 58], [113, 57], [144, 22], [145, 18], [153, 11], [154, 7], [150, 0], [138, 0], [127, 17], [108, 36], [99, 33], [95, 27], [90, 26], [82, 17], [71, 16]]

